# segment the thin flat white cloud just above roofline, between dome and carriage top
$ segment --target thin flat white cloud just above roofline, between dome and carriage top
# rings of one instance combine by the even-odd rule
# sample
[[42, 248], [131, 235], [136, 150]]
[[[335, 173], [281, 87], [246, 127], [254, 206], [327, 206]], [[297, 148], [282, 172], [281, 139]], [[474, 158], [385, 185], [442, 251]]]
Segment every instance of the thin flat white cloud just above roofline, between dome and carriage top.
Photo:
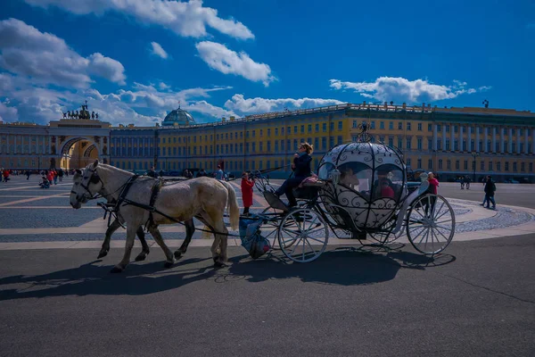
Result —
[[318, 106], [343, 104], [343, 102], [336, 99], [322, 99], [322, 98], [282, 98], [282, 99], [266, 99], [266, 98], [249, 98], [245, 99], [243, 95], [233, 95], [225, 103], [225, 107], [235, 112], [245, 114], [261, 113], [261, 112], [278, 112], [283, 111], [284, 108], [288, 110], [314, 108]]

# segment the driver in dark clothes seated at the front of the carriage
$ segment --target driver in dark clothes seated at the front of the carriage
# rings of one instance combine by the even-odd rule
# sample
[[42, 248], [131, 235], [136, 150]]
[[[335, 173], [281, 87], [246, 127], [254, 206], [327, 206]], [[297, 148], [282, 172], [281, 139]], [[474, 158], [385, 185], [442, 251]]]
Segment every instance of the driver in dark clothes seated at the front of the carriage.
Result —
[[295, 207], [297, 205], [297, 200], [293, 195], [293, 188], [299, 187], [303, 179], [307, 179], [312, 176], [312, 170], [310, 164], [312, 162], [312, 157], [310, 156], [314, 151], [314, 147], [309, 143], [300, 143], [297, 153], [293, 155], [293, 177], [286, 179], [278, 189], [275, 191], [275, 195], [280, 197], [281, 195], [286, 195], [288, 198], [289, 207]]

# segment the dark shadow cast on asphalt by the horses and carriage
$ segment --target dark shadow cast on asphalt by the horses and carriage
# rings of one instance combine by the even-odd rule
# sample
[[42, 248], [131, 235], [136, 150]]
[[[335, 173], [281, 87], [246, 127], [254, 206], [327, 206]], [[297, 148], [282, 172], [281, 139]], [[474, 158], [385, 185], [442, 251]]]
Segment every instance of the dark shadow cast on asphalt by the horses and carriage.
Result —
[[65, 295], [148, 295], [201, 280], [257, 283], [298, 278], [310, 283], [369, 285], [395, 278], [399, 269], [426, 270], [455, 260], [449, 254], [431, 257], [362, 247], [325, 252], [317, 261], [306, 264], [288, 263], [280, 253], [256, 261], [238, 255], [218, 270], [212, 268], [211, 259], [192, 258], [167, 270], [162, 262], [147, 262], [133, 263], [125, 272], [111, 274], [112, 265], [95, 261], [43, 275], [0, 278], [0, 301]]

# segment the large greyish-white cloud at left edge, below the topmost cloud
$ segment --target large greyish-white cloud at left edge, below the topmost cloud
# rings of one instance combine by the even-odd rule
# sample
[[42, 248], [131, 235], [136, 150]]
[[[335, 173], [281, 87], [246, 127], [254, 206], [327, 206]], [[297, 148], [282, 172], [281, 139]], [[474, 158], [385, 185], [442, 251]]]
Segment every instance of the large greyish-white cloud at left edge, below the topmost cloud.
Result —
[[90, 74], [119, 84], [126, 78], [120, 62], [98, 53], [84, 58], [62, 38], [16, 19], [0, 21], [0, 67], [64, 87], [88, 87]]

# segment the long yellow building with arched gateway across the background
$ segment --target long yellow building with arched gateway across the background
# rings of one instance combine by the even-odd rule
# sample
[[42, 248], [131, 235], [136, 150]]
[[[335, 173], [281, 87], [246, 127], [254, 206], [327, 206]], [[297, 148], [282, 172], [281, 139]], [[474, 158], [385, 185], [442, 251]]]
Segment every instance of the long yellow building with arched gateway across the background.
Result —
[[192, 124], [189, 113], [173, 112], [188, 120], [166, 118], [167, 126], [155, 127], [65, 119], [49, 126], [3, 124], [0, 166], [37, 169], [39, 155], [45, 166], [74, 167], [99, 157], [136, 172], [152, 165], [166, 171], [210, 171], [221, 165], [238, 174], [282, 167], [270, 176], [285, 178], [301, 141], [314, 145], [316, 168], [323, 154], [353, 140], [358, 125], [366, 121], [374, 140], [399, 147], [411, 170], [432, 170], [441, 180], [491, 174], [498, 180], [535, 182], [531, 112], [364, 103], [231, 117], [209, 124]]

